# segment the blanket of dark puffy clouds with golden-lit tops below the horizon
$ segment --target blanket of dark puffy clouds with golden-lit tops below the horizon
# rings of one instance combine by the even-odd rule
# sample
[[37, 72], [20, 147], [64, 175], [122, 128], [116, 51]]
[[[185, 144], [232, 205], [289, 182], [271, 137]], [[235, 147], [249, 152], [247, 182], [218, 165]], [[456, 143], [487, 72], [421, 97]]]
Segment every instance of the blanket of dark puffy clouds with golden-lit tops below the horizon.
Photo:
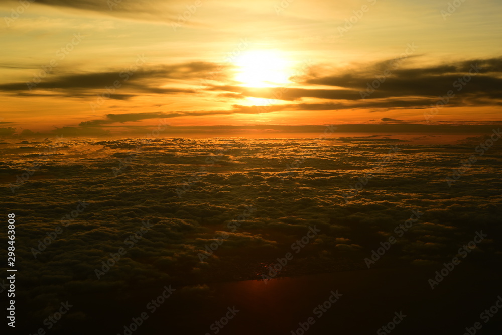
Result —
[[[1, 207], [22, 217], [17, 242], [26, 246], [19, 257], [29, 278], [24, 294], [37, 302], [31, 307], [34, 319], [50, 312], [37, 307], [41, 301], [57, 304], [65, 295], [81, 306], [103, 294], [115, 305], [144, 305], [131, 287], [156, 297], [161, 292], [155, 288], [172, 284], [180, 288], [182, 304], [206, 301], [214, 292], [201, 283], [260, 279], [287, 252], [294, 258], [278, 276], [364, 269], [364, 258], [391, 236], [396, 243], [375, 267], [442, 264], [480, 230], [488, 238], [467, 261], [499, 259], [498, 147], [450, 188], [445, 176], [474, 147], [398, 142], [401, 150], [389, 154], [396, 141], [368, 141], [374, 139], [334, 138], [312, 146], [311, 139], [71, 138], [57, 148], [59, 155], [45, 159], [30, 155], [56, 141], [4, 144], [0, 177], [9, 200]], [[144, 150], [115, 177], [113, 168], [140, 144]], [[208, 157], [218, 161], [211, 164]], [[383, 158], [385, 164], [375, 166]], [[35, 161], [40, 168], [12, 193], [9, 182]], [[289, 169], [294, 161], [298, 164]], [[201, 167], [204, 173], [198, 174]], [[284, 172], [291, 173], [281, 176]], [[374, 177], [364, 181], [368, 174]], [[360, 180], [360, 190], [344, 196]], [[78, 211], [78, 201], [89, 205]], [[423, 215], [400, 236], [412, 210]], [[63, 226], [66, 215], [71, 219]], [[152, 225], [140, 234], [144, 220]], [[293, 243], [302, 243], [314, 226], [320, 233], [308, 243], [304, 239], [295, 253]], [[51, 239], [57, 227], [62, 232]], [[223, 234], [227, 238], [219, 244]], [[50, 243], [34, 258], [31, 248], [44, 239]], [[98, 280], [95, 270], [113, 263], [120, 248], [126, 253]], [[208, 257], [201, 262], [199, 253]], [[75, 296], [77, 291], [85, 297]], [[72, 322], [99, 319], [88, 308], [75, 308], [78, 318]]]

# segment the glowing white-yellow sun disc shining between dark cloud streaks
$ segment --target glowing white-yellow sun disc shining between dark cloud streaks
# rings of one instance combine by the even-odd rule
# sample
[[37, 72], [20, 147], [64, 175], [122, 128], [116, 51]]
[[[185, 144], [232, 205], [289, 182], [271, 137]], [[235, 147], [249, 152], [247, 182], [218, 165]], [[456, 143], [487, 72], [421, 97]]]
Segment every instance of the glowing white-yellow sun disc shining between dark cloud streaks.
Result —
[[248, 87], [275, 87], [289, 83], [289, 61], [276, 50], [254, 50], [240, 55], [234, 62], [235, 80]]

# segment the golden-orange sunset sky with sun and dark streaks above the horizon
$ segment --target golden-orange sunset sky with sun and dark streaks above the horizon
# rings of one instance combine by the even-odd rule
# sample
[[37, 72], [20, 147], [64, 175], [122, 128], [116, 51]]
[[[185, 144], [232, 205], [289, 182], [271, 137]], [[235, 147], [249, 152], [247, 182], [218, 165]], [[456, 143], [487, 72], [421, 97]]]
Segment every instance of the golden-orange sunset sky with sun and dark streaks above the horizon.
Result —
[[0, 134], [498, 121], [502, 3], [455, 4], [2, 1]]

